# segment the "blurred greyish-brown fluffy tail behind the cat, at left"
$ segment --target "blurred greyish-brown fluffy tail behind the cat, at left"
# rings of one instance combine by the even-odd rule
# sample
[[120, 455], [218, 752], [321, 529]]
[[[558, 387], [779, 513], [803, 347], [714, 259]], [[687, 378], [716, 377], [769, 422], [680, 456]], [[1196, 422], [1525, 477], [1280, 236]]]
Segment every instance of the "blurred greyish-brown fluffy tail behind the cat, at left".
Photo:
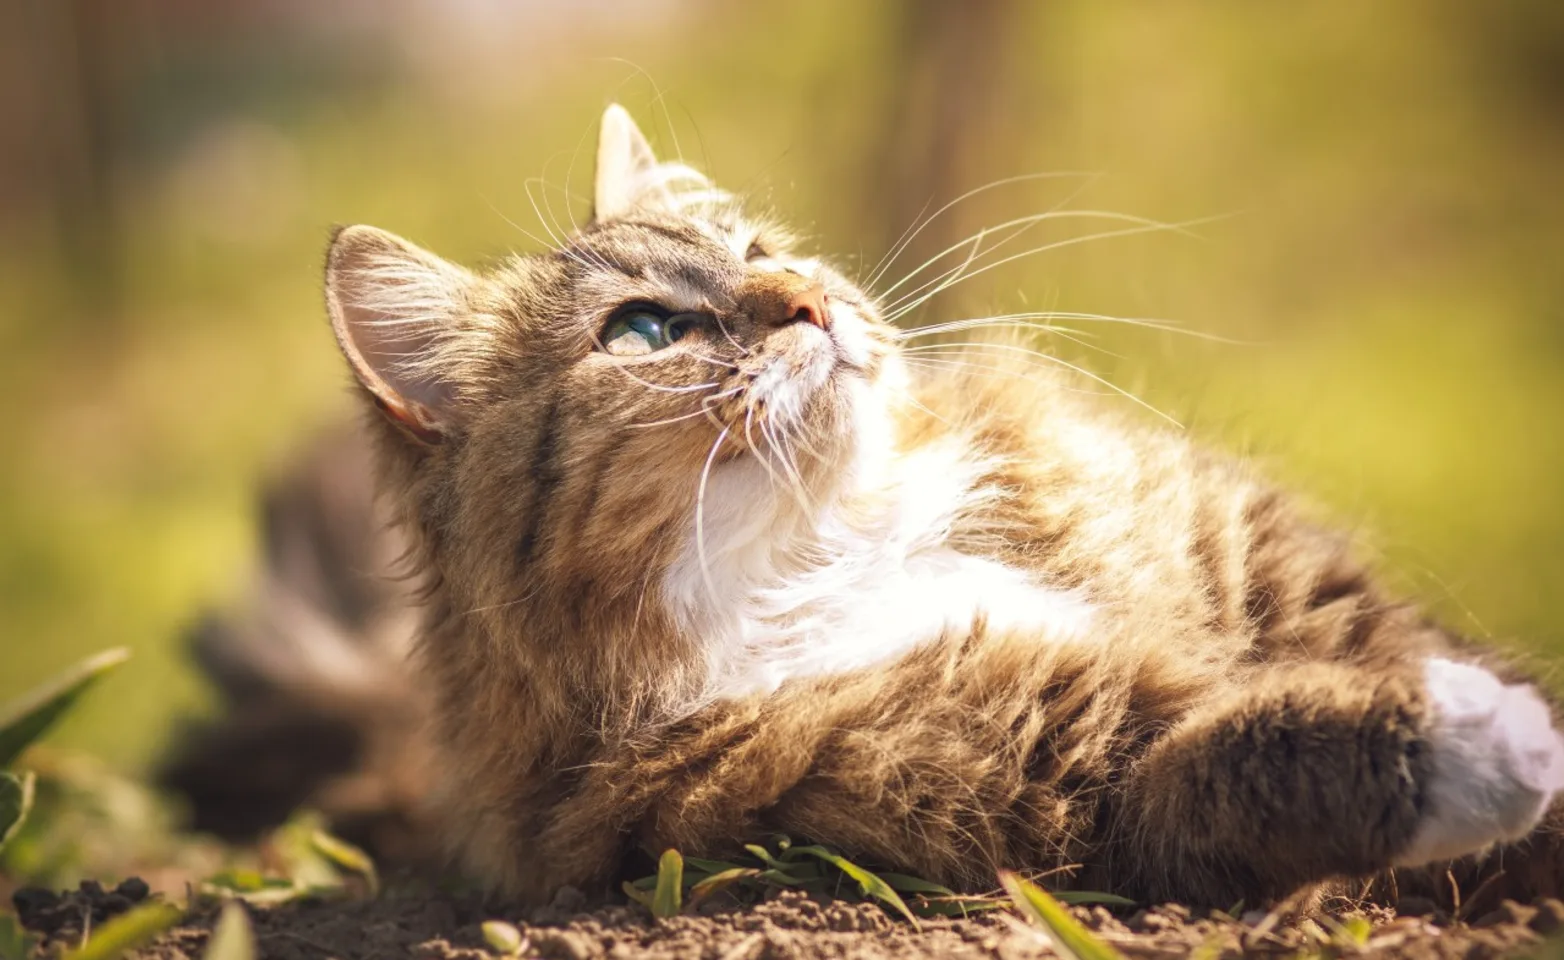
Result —
[[414, 585], [397, 575], [405, 541], [375, 505], [368, 439], [332, 432], [266, 485], [260, 535], [241, 600], [189, 635], [222, 711], [177, 740], [161, 785], [224, 838], [308, 807], [378, 857], [433, 857], [427, 702], [407, 669]]

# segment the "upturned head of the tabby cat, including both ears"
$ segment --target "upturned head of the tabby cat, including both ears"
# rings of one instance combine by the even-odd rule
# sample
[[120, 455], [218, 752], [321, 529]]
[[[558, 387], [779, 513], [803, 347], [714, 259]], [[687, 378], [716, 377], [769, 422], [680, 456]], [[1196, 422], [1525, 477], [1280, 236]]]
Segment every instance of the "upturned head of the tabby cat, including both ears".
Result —
[[518, 583], [644, 596], [702, 508], [740, 510], [705, 503], [713, 471], [751, 461], [766, 482], [738, 499], [802, 507], [854, 469], [899, 391], [871, 299], [658, 163], [619, 106], [593, 219], [560, 249], [472, 272], [349, 227], [327, 303], [393, 427], [394, 496], [479, 602], [516, 602]]

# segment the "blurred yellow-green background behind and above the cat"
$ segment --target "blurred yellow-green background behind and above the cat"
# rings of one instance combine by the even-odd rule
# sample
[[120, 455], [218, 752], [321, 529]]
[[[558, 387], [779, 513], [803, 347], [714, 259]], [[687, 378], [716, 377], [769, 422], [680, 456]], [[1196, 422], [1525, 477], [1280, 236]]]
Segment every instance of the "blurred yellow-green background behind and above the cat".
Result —
[[180, 632], [241, 588], [258, 478], [347, 411], [328, 227], [536, 249], [529, 184], [583, 216], [610, 100], [863, 272], [929, 200], [1018, 174], [1098, 175], [974, 197], [901, 269], [1060, 205], [1217, 217], [1017, 261], [913, 322], [1228, 338], [1049, 347], [1262, 458], [1459, 629], [1564, 652], [1553, 0], [11, 0], [0, 697], [131, 646], [56, 736], [130, 771], [208, 710]]

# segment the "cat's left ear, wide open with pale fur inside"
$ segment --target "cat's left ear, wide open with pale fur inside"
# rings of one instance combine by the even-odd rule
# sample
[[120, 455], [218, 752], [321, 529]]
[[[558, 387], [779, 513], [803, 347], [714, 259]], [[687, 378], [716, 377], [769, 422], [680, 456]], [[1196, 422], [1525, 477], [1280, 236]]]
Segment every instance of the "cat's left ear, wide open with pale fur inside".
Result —
[[325, 258], [332, 331], [358, 383], [402, 430], [444, 439], [455, 386], [441, 364], [468, 292], [468, 270], [374, 227], [346, 227]]

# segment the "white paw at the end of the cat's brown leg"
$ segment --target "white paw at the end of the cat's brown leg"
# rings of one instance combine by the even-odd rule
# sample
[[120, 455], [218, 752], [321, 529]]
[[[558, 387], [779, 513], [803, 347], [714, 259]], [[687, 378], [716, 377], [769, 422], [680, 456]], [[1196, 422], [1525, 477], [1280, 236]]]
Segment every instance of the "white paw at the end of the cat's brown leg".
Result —
[[1564, 736], [1523, 683], [1506, 686], [1470, 663], [1431, 658], [1428, 805], [1403, 866], [1448, 860], [1525, 836], [1564, 790]]

